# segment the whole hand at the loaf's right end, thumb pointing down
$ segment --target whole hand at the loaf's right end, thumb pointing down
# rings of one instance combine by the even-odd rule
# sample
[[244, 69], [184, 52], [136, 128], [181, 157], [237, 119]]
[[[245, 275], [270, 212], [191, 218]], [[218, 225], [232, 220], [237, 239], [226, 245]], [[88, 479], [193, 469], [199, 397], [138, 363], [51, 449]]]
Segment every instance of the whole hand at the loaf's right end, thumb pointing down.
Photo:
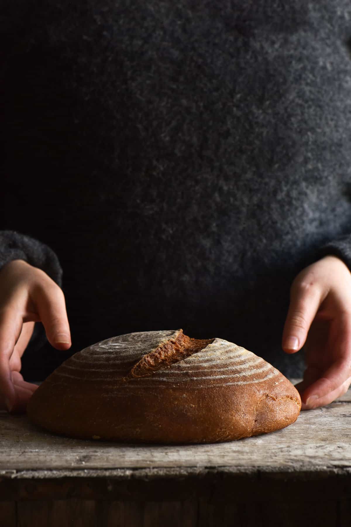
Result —
[[331, 403], [351, 384], [351, 273], [335, 256], [303, 269], [290, 289], [282, 346], [296, 353], [304, 344], [306, 370], [296, 388], [306, 410]]

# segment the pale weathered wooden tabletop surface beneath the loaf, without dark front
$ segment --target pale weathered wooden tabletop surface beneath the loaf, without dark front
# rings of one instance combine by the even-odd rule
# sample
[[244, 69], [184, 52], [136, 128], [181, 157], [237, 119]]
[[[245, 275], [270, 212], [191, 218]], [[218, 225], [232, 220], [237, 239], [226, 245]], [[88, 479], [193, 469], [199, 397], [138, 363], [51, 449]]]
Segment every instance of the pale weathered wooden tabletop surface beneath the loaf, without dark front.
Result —
[[[84, 477], [135, 469], [202, 467], [234, 471], [323, 471], [351, 467], [351, 391], [338, 401], [302, 412], [283, 430], [229, 443], [131, 445], [74, 440], [39, 430], [27, 416], [0, 413], [0, 475], [3, 477]], [[32, 471], [32, 472], [31, 472]]]

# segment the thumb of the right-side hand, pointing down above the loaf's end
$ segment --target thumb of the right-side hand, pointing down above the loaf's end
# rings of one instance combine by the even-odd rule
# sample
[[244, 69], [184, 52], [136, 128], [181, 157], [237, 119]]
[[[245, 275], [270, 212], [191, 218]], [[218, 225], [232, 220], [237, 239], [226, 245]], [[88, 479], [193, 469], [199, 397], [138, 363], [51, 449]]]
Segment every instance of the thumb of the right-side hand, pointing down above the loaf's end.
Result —
[[295, 353], [305, 344], [307, 333], [322, 301], [322, 290], [307, 282], [293, 284], [286, 317], [282, 347]]

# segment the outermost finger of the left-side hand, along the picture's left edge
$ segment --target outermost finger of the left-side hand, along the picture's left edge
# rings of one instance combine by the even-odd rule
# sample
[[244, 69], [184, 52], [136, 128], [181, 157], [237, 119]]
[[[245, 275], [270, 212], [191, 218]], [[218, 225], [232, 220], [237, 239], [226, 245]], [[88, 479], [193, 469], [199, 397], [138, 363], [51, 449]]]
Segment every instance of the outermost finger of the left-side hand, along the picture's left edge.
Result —
[[0, 386], [9, 406], [16, 403], [16, 391], [12, 382], [9, 360], [22, 330], [22, 319], [15, 309], [0, 311]]

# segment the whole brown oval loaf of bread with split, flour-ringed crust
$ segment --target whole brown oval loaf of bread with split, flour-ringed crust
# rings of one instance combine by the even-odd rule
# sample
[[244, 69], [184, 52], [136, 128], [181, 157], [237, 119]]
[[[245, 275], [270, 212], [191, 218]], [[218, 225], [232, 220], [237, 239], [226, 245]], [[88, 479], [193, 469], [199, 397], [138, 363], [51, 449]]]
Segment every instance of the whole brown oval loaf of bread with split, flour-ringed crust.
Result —
[[296, 421], [296, 388], [264, 359], [182, 329], [108, 338], [38, 387], [27, 413], [54, 433], [143, 443], [214, 443]]

